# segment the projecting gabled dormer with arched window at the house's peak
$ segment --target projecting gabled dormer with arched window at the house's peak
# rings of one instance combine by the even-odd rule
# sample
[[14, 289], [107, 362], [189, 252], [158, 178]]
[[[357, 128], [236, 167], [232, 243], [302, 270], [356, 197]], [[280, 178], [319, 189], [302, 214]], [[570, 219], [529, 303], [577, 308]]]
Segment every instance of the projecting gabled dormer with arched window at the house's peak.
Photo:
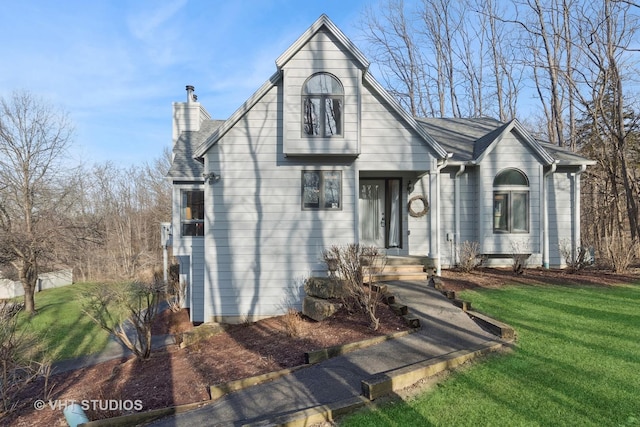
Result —
[[282, 76], [284, 154], [360, 154], [360, 103], [368, 61], [322, 15], [276, 65]]

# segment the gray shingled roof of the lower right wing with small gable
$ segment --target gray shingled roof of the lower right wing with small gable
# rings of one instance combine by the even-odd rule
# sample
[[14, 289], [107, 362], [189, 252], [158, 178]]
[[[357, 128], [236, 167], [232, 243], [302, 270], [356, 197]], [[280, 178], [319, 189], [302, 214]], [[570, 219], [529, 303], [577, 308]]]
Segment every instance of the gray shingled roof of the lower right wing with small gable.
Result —
[[569, 150], [541, 143], [518, 120], [507, 123], [491, 118], [421, 118], [418, 123], [444, 149], [451, 162], [479, 163], [510, 132], [516, 132], [544, 165], [590, 165], [594, 162]]

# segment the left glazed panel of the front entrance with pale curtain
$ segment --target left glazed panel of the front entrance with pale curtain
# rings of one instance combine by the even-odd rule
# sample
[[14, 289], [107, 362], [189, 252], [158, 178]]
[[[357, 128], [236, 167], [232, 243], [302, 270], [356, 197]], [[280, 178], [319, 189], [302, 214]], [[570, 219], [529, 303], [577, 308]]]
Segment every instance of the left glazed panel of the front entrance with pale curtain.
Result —
[[386, 245], [385, 181], [360, 180], [360, 242], [366, 246]]

